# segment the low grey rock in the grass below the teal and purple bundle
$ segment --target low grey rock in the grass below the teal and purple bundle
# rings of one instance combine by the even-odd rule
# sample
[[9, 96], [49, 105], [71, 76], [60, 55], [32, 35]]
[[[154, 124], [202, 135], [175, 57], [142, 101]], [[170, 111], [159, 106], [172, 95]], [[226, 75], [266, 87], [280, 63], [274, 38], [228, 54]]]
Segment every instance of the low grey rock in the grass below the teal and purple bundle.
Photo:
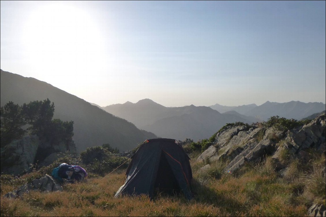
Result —
[[17, 190], [8, 192], [4, 196], [7, 198], [18, 198], [25, 193], [29, 193], [29, 191], [62, 191], [62, 187], [57, 184], [51, 176], [46, 174], [43, 178], [35, 179], [30, 183], [23, 184]]

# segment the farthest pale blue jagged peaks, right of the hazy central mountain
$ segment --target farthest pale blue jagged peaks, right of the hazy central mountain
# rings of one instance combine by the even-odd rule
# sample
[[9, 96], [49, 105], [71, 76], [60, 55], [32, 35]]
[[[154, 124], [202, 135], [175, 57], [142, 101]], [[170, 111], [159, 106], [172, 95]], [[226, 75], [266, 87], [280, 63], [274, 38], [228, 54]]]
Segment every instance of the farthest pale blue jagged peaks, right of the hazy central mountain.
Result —
[[253, 116], [262, 121], [267, 121], [271, 116], [276, 115], [284, 118], [301, 120], [313, 113], [319, 113], [326, 109], [326, 105], [321, 102], [303, 103], [300, 101], [291, 101], [287, 103], [267, 101], [260, 106], [257, 106], [256, 104], [250, 104], [238, 107], [221, 106], [219, 104], [215, 104], [214, 106], [210, 107], [219, 112], [234, 110], [240, 114]]

